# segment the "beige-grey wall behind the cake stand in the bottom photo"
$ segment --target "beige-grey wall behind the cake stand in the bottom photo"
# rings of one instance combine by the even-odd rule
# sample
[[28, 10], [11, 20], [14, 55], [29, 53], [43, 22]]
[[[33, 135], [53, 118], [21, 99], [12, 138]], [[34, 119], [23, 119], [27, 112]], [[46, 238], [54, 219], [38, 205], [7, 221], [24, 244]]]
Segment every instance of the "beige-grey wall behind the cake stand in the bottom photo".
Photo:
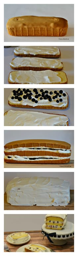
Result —
[[[4, 232], [41, 230], [46, 214], [4, 214]], [[74, 223], [74, 214], [67, 221]]]

